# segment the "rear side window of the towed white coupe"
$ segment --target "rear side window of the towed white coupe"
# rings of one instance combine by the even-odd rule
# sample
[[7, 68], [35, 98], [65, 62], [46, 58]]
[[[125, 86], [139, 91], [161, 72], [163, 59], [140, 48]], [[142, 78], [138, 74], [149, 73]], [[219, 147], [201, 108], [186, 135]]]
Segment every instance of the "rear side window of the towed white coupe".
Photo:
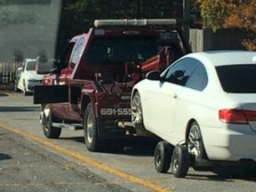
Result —
[[203, 91], [205, 86], [208, 84], [208, 76], [204, 65], [200, 61], [197, 62], [196, 70], [189, 77], [186, 87]]

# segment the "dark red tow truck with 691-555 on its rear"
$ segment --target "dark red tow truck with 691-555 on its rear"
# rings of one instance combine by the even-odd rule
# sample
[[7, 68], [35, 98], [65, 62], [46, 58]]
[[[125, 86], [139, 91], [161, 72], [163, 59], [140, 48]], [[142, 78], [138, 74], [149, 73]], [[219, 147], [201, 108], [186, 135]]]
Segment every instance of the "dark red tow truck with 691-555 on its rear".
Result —
[[84, 129], [90, 151], [123, 148], [124, 137], [137, 134], [132, 86], [188, 52], [176, 20], [95, 20], [88, 33], [71, 39], [51, 71], [40, 69], [45, 60], [38, 58], [37, 73], [50, 73], [34, 90], [44, 135], [57, 139], [63, 128]]

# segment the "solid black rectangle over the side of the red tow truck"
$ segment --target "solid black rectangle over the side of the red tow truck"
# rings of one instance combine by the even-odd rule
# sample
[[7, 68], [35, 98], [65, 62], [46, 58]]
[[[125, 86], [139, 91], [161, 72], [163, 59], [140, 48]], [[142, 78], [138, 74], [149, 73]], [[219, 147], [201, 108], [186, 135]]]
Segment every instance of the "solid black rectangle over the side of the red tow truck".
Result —
[[34, 87], [34, 104], [68, 102], [68, 85], [38, 85]]

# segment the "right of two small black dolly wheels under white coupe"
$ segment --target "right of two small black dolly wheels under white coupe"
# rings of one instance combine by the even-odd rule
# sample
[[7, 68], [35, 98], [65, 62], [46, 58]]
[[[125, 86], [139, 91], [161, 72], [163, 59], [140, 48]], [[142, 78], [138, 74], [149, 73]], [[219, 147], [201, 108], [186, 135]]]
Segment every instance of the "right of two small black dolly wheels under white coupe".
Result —
[[188, 173], [190, 156], [185, 145], [177, 145], [172, 153], [172, 174], [177, 178], [184, 178]]

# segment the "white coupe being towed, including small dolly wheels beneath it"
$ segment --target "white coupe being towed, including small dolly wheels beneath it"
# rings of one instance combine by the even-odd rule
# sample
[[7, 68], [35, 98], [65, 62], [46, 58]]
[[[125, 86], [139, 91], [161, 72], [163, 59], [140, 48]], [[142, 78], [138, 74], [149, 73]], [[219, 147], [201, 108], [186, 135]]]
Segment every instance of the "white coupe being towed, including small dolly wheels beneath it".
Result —
[[133, 87], [132, 123], [164, 140], [156, 145], [157, 172], [170, 164], [175, 177], [189, 166], [255, 168], [256, 52], [190, 53], [162, 74], [149, 72]]

